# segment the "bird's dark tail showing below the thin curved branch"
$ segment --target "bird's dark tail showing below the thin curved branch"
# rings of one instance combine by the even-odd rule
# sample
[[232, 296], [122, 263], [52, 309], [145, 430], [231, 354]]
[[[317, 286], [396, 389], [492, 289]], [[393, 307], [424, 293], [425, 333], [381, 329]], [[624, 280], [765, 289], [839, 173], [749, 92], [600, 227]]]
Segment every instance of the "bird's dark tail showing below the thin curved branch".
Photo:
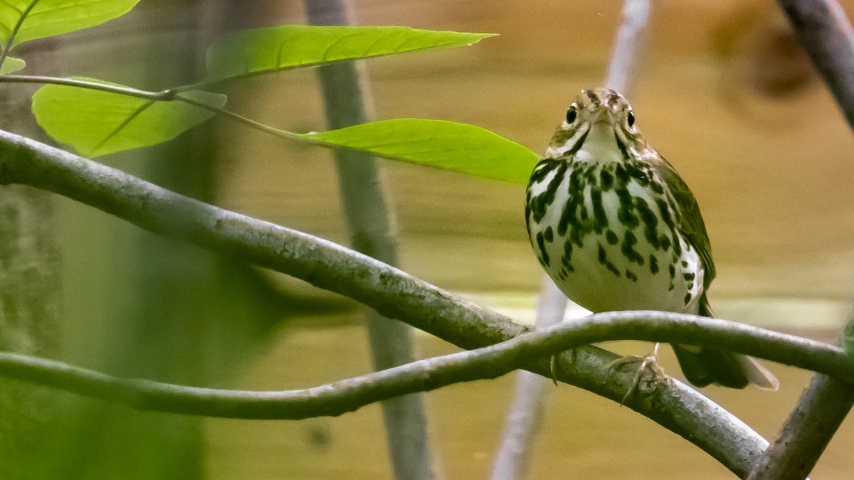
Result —
[[[711, 317], [711, 308], [705, 296], [700, 301], [700, 315]], [[754, 384], [760, 389], [776, 390], [780, 387], [774, 374], [757, 360], [715, 348], [693, 345], [673, 345], [682, 373], [688, 382], [697, 387], [717, 383], [731, 389], [743, 389]]]

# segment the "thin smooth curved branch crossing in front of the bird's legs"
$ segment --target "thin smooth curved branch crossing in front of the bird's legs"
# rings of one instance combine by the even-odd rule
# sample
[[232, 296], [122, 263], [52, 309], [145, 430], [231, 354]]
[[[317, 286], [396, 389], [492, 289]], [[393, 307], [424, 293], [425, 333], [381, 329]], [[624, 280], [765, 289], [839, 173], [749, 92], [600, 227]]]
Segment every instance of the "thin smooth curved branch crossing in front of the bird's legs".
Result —
[[[612, 312], [585, 322], [531, 331], [489, 347], [418, 360], [311, 389], [203, 389], [102, 373], [21, 354], [0, 353], [0, 376], [64, 389], [139, 410], [233, 419], [306, 419], [352, 412], [376, 401], [453, 383], [496, 378], [590, 342], [646, 340], [714, 345], [854, 382], [854, 359], [841, 348], [736, 322], [661, 312]], [[634, 377], [614, 372], [613, 377]], [[610, 381], [610, 379], [609, 379]], [[652, 378], [647, 383], [668, 383]], [[702, 424], [704, 419], [696, 419]]]

